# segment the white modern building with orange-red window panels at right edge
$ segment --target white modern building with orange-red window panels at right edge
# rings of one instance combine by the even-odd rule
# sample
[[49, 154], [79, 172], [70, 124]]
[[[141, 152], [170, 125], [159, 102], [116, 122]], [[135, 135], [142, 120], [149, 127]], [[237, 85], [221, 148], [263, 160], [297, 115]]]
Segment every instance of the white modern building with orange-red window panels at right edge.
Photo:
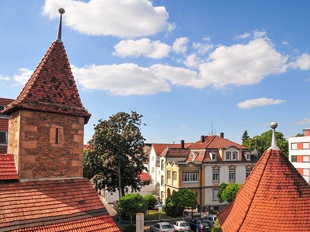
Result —
[[302, 137], [289, 138], [289, 159], [310, 184], [310, 128], [303, 132]]

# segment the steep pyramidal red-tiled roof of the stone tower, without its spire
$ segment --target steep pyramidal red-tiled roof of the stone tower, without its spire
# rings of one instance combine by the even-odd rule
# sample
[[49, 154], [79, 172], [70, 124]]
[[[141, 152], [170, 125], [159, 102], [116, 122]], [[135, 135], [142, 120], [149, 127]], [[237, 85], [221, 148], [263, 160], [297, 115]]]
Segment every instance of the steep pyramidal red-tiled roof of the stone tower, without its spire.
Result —
[[2, 113], [18, 109], [62, 113], [85, 117], [83, 107], [63, 43], [53, 42], [16, 100]]

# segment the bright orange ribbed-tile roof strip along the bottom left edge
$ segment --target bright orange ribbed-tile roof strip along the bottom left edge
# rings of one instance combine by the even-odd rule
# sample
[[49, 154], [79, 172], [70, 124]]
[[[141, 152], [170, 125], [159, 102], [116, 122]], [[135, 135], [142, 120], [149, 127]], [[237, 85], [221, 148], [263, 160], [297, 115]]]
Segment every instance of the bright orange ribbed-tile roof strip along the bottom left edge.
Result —
[[120, 232], [120, 229], [115, 225], [113, 219], [109, 215], [102, 215], [93, 218], [80, 219], [71, 222], [57, 223], [48, 226], [38, 226], [25, 229], [17, 229], [11, 232]]

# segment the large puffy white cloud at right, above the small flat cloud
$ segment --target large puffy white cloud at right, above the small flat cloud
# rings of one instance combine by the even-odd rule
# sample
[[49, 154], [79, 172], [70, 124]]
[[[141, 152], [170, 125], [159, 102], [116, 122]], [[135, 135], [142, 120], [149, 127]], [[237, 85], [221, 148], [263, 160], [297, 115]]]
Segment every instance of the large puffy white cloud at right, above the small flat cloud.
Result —
[[277, 52], [268, 39], [257, 38], [247, 44], [220, 46], [208, 60], [199, 66], [201, 84], [221, 88], [255, 84], [265, 76], [284, 73], [288, 57]]

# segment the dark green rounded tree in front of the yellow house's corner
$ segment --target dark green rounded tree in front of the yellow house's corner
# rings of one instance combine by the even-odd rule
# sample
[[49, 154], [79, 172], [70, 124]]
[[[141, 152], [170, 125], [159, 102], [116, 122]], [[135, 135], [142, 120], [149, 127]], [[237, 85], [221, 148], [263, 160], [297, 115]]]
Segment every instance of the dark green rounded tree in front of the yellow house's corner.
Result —
[[185, 208], [196, 208], [196, 195], [190, 189], [182, 189], [170, 195], [165, 202], [164, 212], [168, 216], [181, 216]]

